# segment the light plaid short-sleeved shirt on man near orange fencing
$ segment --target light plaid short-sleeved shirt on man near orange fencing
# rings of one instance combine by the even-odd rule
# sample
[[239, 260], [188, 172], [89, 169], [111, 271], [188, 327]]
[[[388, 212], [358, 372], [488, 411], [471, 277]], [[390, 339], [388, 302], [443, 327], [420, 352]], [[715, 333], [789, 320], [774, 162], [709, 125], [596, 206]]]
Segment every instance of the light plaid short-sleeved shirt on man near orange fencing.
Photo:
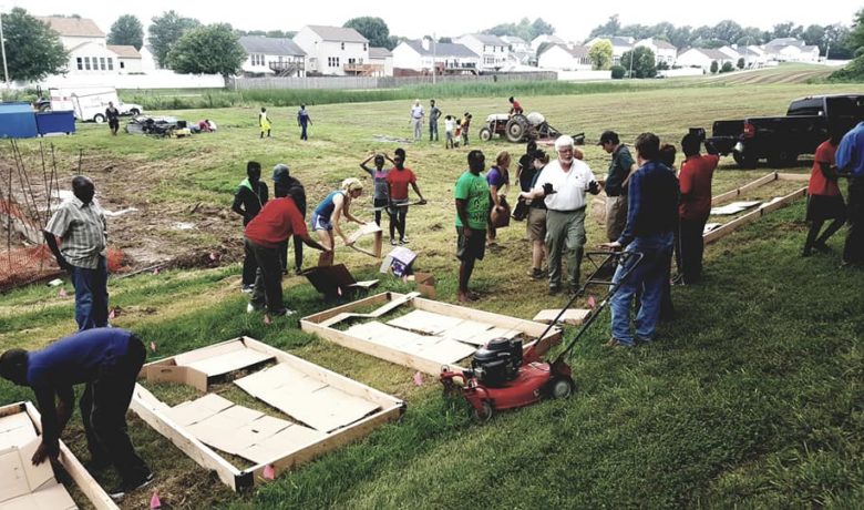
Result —
[[107, 225], [102, 207], [93, 200], [84, 204], [76, 196], [63, 202], [51, 216], [45, 232], [62, 238], [60, 253], [76, 267], [95, 269], [105, 255]]

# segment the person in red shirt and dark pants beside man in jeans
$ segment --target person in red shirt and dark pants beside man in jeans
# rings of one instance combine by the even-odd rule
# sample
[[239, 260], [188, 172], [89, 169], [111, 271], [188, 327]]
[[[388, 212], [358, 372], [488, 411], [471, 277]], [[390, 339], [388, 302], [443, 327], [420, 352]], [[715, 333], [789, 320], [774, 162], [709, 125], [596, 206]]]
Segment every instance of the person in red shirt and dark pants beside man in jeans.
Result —
[[[681, 200], [678, 206], [678, 239], [675, 243], [675, 262], [678, 275], [689, 285], [702, 276], [702, 232], [711, 214], [711, 177], [720, 162], [718, 154], [699, 154], [699, 135], [688, 133], [681, 140], [685, 162], [678, 181]], [[712, 152], [710, 147], [709, 152]]]

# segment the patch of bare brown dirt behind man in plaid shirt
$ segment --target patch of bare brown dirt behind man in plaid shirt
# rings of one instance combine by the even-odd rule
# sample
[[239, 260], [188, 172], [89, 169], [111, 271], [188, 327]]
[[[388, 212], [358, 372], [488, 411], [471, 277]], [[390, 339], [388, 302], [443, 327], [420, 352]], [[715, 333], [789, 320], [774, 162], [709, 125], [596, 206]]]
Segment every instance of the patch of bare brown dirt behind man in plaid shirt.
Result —
[[[24, 166], [30, 185], [21, 183], [14, 160], [8, 150], [0, 151], [0, 184], [3, 197], [8, 195], [9, 173], [12, 173], [12, 196], [30, 216], [35, 204], [44, 215], [48, 206], [45, 173], [42, 170], [39, 153], [24, 154]], [[7, 157], [9, 156], [9, 157]], [[71, 159], [70, 159], [71, 160]], [[76, 175], [78, 156], [74, 161], [58, 160], [56, 181], [60, 190], [71, 191], [71, 180]], [[107, 218], [109, 248], [123, 252], [121, 265], [124, 272], [134, 272], [153, 266], [163, 268], [214, 267], [238, 261], [243, 257], [243, 236], [239, 216], [234, 214], [229, 204], [194, 205], [155, 202], [157, 187], [173, 178], [176, 169], [165, 162], [124, 161], [117, 156], [84, 154], [83, 172], [96, 186], [96, 200], [103, 210], [120, 212], [135, 208], [119, 216]], [[50, 173], [51, 170], [48, 170]], [[51, 186], [55, 188], [55, 186]], [[58, 200], [52, 198], [54, 208]], [[7, 249], [6, 215], [0, 211], [2, 223], [2, 245], [0, 253]], [[14, 249], [27, 245], [23, 236], [12, 236]]]

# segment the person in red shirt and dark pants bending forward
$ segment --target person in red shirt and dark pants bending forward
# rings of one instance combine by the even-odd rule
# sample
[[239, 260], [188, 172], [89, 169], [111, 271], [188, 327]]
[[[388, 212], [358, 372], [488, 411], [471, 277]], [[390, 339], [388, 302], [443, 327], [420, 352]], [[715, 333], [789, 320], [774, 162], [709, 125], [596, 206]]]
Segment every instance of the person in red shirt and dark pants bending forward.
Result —
[[246, 253], [251, 253], [258, 264], [251, 300], [246, 312], [251, 314], [266, 307], [268, 315], [279, 317], [294, 314], [282, 303], [279, 245], [295, 235], [316, 249], [330, 252], [330, 248], [309, 237], [304, 216], [294, 198], [288, 196], [286, 183], [275, 182], [274, 193], [276, 198], [267, 202], [261, 212], [246, 225], [244, 233]]

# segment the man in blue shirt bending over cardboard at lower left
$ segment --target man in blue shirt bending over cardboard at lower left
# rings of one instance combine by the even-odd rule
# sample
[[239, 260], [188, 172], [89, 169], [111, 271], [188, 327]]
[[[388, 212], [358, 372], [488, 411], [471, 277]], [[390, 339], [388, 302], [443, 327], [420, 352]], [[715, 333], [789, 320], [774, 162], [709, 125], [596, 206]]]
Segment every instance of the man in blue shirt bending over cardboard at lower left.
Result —
[[135, 379], [146, 350], [131, 332], [94, 328], [61, 338], [42, 350], [9, 349], [0, 356], [0, 376], [33, 389], [42, 415], [42, 443], [32, 462], [56, 459], [59, 440], [72, 416], [74, 385], [86, 385], [81, 396], [81, 420], [93, 468], [113, 463], [123, 480], [112, 498], [148, 484], [153, 473], [135, 453], [126, 432]]

